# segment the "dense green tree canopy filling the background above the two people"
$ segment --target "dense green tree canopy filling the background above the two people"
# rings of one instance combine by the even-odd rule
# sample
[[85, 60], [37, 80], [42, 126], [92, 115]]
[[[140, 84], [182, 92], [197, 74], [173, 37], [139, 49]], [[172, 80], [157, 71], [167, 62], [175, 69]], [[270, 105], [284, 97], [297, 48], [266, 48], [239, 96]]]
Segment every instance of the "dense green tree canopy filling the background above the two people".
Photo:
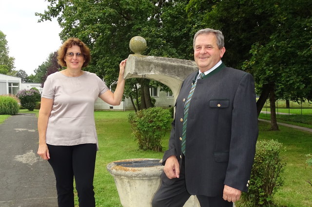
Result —
[[[202, 28], [225, 36], [226, 65], [254, 75], [257, 110], [271, 99], [312, 99], [312, 1], [310, 0], [49, 0], [39, 21], [57, 17], [61, 39], [76, 36], [91, 49], [87, 70], [107, 85], [117, 80], [133, 36], [147, 41], [143, 54], [193, 60], [192, 40]], [[147, 97], [149, 81], [126, 96]], [[273, 110], [271, 110], [273, 111]], [[274, 120], [274, 118], [273, 118]], [[276, 122], [276, 121], [275, 121]]]

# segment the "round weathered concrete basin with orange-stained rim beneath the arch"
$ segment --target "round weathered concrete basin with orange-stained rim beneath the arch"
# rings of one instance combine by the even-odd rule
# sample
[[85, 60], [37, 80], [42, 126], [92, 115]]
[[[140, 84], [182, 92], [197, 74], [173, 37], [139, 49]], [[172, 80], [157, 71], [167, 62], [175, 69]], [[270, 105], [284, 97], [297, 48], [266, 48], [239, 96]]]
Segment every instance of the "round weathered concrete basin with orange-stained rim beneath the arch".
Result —
[[[149, 158], [126, 159], [111, 162], [107, 170], [113, 175], [120, 203], [123, 207], [151, 207], [152, 199], [160, 185], [162, 165], [153, 167], [124, 167], [116, 163], [155, 160]], [[160, 161], [160, 160], [159, 160]], [[184, 207], [200, 207], [195, 196], [191, 196]]]

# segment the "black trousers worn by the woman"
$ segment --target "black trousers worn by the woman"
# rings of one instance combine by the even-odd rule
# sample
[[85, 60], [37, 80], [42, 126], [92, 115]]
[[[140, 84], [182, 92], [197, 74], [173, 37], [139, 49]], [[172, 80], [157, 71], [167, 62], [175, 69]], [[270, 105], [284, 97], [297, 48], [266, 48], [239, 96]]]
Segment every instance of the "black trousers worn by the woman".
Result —
[[93, 177], [96, 144], [49, 145], [50, 159], [58, 192], [59, 207], [74, 207], [74, 176], [79, 207], [95, 207]]

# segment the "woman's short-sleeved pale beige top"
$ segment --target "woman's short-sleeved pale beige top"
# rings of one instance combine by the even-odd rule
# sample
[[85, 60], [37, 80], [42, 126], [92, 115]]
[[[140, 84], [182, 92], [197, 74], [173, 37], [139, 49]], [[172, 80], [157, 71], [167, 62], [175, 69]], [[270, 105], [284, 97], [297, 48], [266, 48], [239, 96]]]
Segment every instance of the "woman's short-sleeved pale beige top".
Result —
[[109, 90], [94, 73], [84, 71], [81, 76], [67, 77], [60, 72], [49, 75], [41, 97], [53, 99], [46, 143], [71, 146], [96, 143], [98, 136], [94, 121], [94, 103]]

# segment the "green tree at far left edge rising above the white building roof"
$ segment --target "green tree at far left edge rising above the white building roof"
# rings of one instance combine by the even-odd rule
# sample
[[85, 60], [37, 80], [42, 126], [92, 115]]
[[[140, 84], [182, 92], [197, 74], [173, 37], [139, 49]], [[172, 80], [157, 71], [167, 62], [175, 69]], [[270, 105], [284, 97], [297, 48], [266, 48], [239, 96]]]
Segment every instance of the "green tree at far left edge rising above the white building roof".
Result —
[[[15, 58], [9, 56], [9, 48], [7, 46], [7, 41], [5, 39], [6, 35], [4, 35], [0, 31], [0, 71], [5, 72], [6, 69], [8, 72], [11, 72], [14, 69], [14, 60]], [[3, 70], [5, 68], [5, 70]]]

